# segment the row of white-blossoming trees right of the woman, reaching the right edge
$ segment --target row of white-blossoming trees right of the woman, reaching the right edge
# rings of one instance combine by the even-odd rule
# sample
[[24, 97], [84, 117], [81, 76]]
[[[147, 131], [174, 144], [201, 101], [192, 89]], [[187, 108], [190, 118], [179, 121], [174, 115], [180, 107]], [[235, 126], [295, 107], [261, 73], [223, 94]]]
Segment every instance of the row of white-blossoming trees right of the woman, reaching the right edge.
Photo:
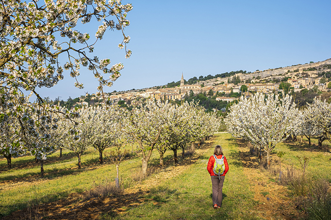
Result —
[[256, 93], [233, 104], [225, 123], [233, 136], [250, 141], [260, 155], [264, 151], [270, 165], [271, 151], [289, 135], [304, 135], [309, 144], [316, 136], [319, 147], [331, 140], [331, 104], [315, 97], [306, 109], [299, 110], [290, 94]]

